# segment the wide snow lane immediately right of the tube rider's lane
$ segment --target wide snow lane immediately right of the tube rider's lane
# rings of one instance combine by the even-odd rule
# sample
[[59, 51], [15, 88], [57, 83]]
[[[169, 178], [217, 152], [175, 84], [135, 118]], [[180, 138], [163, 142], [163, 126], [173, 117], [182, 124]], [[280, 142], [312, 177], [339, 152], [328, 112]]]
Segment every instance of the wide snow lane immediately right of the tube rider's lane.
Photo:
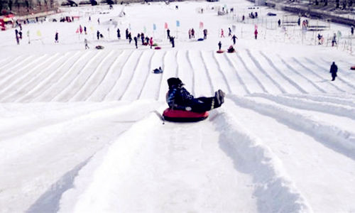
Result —
[[[232, 102], [226, 102], [227, 109], [238, 111], [237, 120], [243, 127], [253, 136], [263, 138], [263, 143], [281, 160], [287, 177], [314, 212], [354, 209], [354, 202], [337, 196], [338, 193], [349, 197], [355, 194], [355, 150], [354, 146], [346, 146], [354, 143], [349, 144], [349, 138], [346, 139], [342, 131], [333, 129], [334, 126], [323, 130], [324, 124], [273, 104], [229, 97]], [[339, 143], [343, 148], [338, 148]]]

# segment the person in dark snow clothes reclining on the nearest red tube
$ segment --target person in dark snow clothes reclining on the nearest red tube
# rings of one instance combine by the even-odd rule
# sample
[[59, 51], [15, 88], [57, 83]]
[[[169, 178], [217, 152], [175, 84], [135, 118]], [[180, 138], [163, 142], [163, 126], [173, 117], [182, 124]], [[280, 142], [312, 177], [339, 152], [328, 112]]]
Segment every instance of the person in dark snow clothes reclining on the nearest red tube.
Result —
[[221, 107], [224, 103], [225, 94], [221, 89], [214, 93], [214, 97], [195, 98], [183, 85], [178, 77], [168, 79], [169, 91], [166, 95], [166, 102], [170, 109], [204, 112]]

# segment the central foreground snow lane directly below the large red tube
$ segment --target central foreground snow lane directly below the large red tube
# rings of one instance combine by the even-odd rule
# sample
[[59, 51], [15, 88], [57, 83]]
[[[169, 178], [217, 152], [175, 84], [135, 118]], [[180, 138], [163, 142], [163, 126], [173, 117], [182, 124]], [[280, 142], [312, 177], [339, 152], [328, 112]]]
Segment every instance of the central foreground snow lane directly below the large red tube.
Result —
[[[119, 212], [257, 212], [251, 175], [235, 170], [218, 140], [209, 121], [163, 126], [151, 114], [88, 163], [96, 168], [77, 176], [60, 212], [104, 212], [108, 205]], [[80, 184], [87, 176], [93, 181]]]

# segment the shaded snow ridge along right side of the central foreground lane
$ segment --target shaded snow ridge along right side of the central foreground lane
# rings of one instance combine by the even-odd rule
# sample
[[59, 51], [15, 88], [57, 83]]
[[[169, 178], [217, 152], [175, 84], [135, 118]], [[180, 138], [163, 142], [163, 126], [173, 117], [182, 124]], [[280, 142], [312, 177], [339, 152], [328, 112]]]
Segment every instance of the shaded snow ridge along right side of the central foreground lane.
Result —
[[312, 212], [270, 148], [224, 111], [213, 119], [219, 144], [241, 173], [252, 175], [259, 212]]

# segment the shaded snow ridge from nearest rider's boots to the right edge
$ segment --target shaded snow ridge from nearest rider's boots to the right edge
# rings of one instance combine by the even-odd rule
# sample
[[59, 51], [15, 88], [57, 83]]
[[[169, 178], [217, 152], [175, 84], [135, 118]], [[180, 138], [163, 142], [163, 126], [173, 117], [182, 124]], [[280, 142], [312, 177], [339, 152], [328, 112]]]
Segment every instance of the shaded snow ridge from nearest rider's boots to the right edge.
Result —
[[331, 148], [333, 151], [346, 155], [355, 160], [355, 133], [344, 131], [332, 124], [322, 124], [310, 116], [290, 111], [285, 107], [256, 102], [236, 95], [229, 96], [235, 104], [271, 116], [279, 122], [296, 131], [302, 131], [315, 138], [315, 141]]

